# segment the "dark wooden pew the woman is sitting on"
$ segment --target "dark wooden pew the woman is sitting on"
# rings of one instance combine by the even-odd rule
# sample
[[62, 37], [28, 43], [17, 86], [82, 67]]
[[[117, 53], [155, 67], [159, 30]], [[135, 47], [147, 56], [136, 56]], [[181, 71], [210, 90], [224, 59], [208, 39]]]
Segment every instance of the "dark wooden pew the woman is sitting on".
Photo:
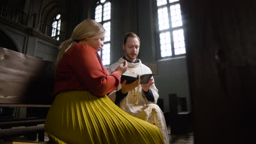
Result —
[[[49, 108], [53, 67], [53, 62], [0, 47], [0, 107]], [[0, 142], [27, 134], [38, 134], [39, 141], [44, 141], [44, 118], [0, 117]]]

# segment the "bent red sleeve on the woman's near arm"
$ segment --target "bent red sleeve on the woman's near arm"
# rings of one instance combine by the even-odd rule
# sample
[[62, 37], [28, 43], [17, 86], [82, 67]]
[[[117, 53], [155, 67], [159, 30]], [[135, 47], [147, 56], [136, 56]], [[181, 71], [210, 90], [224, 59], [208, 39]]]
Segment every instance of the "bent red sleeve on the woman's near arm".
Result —
[[80, 83], [92, 94], [104, 95], [117, 89], [120, 83], [120, 73], [109, 75], [97, 52], [86, 44], [76, 44], [67, 52], [67, 64], [74, 70]]

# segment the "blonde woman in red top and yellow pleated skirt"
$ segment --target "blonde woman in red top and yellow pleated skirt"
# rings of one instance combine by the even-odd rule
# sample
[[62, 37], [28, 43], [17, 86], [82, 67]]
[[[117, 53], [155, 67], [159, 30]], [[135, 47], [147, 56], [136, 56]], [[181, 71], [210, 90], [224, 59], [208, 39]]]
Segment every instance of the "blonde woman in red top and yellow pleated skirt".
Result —
[[104, 34], [100, 23], [88, 19], [61, 44], [55, 99], [44, 125], [50, 142], [163, 143], [158, 127], [130, 116], [107, 97], [117, 89], [127, 62], [108, 73], [97, 53]]

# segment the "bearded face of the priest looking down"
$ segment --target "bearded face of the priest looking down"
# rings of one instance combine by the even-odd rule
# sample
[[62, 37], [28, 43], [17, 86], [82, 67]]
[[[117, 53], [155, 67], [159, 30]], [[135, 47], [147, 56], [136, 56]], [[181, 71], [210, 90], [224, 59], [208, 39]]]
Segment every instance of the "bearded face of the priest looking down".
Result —
[[123, 45], [125, 51], [125, 58], [128, 61], [135, 62], [139, 52], [139, 41], [138, 38], [129, 37], [126, 44]]

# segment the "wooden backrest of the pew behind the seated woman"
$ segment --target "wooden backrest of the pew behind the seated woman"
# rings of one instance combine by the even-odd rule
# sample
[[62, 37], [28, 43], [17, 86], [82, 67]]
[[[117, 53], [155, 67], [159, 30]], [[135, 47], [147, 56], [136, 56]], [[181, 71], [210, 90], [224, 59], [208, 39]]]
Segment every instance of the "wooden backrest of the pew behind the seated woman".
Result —
[[49, 107], [54, 64], [0, 47], [0, 107]]

